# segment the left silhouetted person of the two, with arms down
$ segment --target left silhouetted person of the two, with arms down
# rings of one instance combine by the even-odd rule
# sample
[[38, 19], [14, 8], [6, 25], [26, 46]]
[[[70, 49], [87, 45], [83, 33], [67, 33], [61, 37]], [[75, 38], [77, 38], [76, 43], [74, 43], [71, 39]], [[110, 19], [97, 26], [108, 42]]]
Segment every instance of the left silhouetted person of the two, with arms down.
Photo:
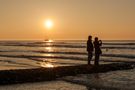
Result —
[[87, 52], [88, 52], [88, 65], [91, 64], [90, 61], [92, 59], [92, 52], [93, 52], [93, 43], [92, 43], [92, 36], [88, 36], [87, 41]]

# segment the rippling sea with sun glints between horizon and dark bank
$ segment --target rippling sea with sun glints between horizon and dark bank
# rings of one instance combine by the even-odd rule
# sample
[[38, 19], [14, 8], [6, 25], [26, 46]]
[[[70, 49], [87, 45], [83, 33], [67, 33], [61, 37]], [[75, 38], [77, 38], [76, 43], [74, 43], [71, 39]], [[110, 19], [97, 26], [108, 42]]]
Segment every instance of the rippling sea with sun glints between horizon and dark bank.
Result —
[[[103, 41], [101, 63], [135, 62], [135, 41]], [[94, 58], [94, 57], [93, 57]], [[86, 64], [86, 41], [0, 41], [0, 69]]]

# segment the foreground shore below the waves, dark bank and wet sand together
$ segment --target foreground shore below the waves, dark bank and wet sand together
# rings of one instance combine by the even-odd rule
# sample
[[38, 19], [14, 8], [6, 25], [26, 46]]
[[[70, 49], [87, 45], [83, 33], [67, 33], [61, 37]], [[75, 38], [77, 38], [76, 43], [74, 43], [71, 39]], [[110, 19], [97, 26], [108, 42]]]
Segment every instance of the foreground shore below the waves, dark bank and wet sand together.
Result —
[[[104, 64], [98, 67], [92, 65], [79, 65], [53, 68], [3, 70], [0, 71], [0, 89], [90, 90], [95, 88], [103, 90], [134, 90], [134, 80], [111, 80], [112, 76], [109, 77], [110, 75], [108, 74], [116, 72], [111, 75], [113, 75], [113, 78], [117, 79], [121, 76], [119, 73], [121, 70], [121, 74], [123, 72], [128, 72], [126, 77], [128, 79], [128, 75], [132, 75], [135, 72], [135, 70], [132, 70], [134, 68], [133, 65], [135, 66], [135, 64], [131, 63], [117, 63]], [[103, 73], [108, 75], [105, 76]], [[107, 77], [109, 78], [107, 79]], [[121, 78], [125, 78], [124, 74]]]

